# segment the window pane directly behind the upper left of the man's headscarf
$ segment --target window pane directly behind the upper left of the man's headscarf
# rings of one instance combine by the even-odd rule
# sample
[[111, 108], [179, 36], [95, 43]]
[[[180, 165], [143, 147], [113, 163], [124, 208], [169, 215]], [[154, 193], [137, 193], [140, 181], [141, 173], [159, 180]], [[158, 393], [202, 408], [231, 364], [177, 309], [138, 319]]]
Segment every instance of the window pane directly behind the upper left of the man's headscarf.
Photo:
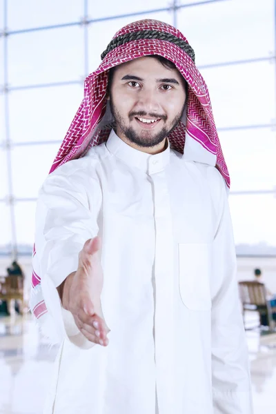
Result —
[[[117, 4], [117, 3], [116, 3]], [[144, 14], [143, 19], [157, 19], [172, 24], [172, 14], [168, 12]], [[139, 17], [125, 17], [124, 19], [114, 19], [110, 21], [99, 21], [92, 23], [88, 29], [89, 33], [89, 68], [90, 72], [97, 69], [101, 63], [101, 53], [106, 49], [115, 33], [132, 21], [139, 20]], [[101, 33], [101, 41], [99, 41]]]

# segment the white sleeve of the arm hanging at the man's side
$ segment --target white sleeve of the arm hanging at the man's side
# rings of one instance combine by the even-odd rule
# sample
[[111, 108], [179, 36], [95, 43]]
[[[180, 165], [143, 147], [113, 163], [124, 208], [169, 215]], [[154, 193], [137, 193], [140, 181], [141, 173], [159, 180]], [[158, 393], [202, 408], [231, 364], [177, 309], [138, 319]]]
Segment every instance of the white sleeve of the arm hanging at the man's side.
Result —
[[213, 242], [214, 414], [252, 414], [248, 347], [239, 303], [235, 244], [225, 188], [220, 199], [220, 221]]

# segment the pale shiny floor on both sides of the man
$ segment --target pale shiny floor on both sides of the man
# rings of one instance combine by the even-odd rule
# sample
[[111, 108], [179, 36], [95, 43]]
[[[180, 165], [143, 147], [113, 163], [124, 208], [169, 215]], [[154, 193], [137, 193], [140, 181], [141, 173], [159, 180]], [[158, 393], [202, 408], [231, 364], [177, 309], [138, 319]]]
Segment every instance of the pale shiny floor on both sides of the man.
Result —
[[[248, 315], [249, 324], [254, 318]], [[253, 330], [247, 337], [255, 414], [275, 413], [276, 333], [260, 336]], [[0, 414], [42, 413], [56, 353], [30, 315], [0, 318]]]

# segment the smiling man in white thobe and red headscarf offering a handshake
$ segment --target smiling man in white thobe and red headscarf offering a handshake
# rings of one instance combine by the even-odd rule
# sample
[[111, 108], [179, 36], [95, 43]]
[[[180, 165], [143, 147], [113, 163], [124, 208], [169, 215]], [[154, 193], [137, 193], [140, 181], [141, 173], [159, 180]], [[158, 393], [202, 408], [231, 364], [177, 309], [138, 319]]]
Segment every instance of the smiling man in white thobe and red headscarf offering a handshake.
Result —
[[[179, 30], [115, 34], [37, 204], [44, 413], [250, 414], [228, 171]], [[215, 168], [216, 167], [216, 168]]]

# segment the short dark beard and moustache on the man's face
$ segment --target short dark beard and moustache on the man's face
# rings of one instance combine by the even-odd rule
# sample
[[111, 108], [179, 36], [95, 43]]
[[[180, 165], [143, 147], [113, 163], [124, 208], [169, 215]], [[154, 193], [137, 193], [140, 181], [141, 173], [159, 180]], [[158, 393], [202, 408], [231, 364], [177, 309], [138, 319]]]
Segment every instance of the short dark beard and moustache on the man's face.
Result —
[[159, 132], [152, 132], [151, 130], [142, 130], [141, 132], [137, 133], [132, 126], [126, 126], [126, 122], [124, 121], [123, 117], [119, 114], [119, 111], [117, 110], [116, 106], [114, 105], [112, 101], [112, 97], [110, 96], [110, 110], [111, 113], [115, 119], [116, 127], [120, 128], [121, 132], [125, 135], [125, 137], [132, 142], [133, 144], [136, 144], [137, 146], [141, 148], [149, 148], [156, 146], [160, 144], [168, 135], [170, 135], [170, 132], [175, 129], [175, 127], [179, 124], [179, 121], [181, 120], [181, 117], [184, 112], [185, 105], [181, 109], [181, 111], [176, 115], [174, 119], [170, 122], [170, 125], [166, 126], [166, 121], [168, 120], [168, 117], [166, 115], [157, 115], [157, 114], [147, 114], [145, 111], [139, 111], [139, 112], [130, 112], [128, 115], [128, 118], [130, 121], [134, 119], [135, 117], [145, 117], [148, 115], [148, 117], [151, 117], [152, 119], [163, 119], [165, 122], [164, 127]]

